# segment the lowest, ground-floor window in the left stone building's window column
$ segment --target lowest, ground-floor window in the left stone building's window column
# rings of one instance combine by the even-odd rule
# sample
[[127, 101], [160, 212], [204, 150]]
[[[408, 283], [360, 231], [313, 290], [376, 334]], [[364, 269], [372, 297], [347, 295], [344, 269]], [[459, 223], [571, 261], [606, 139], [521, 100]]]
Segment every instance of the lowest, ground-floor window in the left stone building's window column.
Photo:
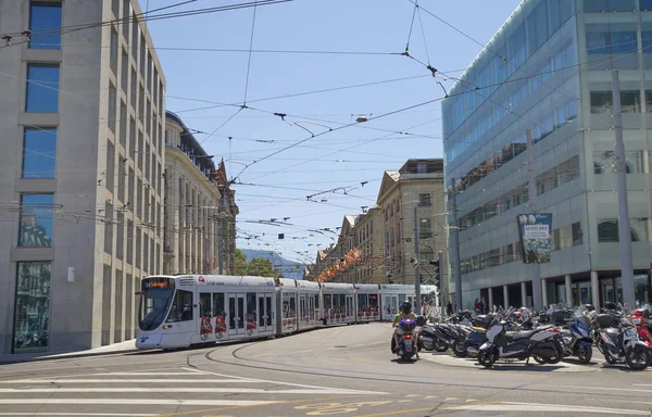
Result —
[[49, 262], [18, 262], [13, 353], [48, 350], [50, 334]]

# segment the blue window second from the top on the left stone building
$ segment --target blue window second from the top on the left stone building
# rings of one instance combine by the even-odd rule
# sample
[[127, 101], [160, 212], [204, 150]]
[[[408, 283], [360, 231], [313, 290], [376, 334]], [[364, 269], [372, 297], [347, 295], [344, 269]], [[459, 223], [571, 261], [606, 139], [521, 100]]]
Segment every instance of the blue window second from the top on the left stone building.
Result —
[[34, 113], [57, 113], [59, 111], [58, 65], [27, 65], [25, 111]]

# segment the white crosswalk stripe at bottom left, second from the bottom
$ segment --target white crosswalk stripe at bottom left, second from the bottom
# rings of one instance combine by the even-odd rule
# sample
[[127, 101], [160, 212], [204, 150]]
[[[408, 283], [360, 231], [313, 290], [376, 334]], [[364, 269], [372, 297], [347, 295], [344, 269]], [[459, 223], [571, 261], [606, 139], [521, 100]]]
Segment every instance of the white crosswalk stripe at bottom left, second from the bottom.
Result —
[[278, 401], [163, 400], [163, 399], [0, 399], [0, 404], [91, 404], [91, 405], [176, 405], [248, 406], [276, 404]]

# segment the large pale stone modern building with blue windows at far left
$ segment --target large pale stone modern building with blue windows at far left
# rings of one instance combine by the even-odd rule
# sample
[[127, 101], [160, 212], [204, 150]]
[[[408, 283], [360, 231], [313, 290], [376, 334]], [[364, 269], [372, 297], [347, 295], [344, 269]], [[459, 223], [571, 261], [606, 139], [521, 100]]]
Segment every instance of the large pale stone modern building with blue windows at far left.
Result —
[[[0, 354], [133, 339], [162, 271], [165, 77], [140, 13], [0, 2]], [[58, 29], [88, 22], [113, 23]]]

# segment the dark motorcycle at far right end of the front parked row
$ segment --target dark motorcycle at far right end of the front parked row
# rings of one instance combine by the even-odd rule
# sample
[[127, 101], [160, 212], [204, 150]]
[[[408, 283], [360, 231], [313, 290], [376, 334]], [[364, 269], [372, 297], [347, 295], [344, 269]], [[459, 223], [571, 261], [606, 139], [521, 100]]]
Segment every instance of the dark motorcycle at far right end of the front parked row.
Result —
[[623, 315], [603, 313], [594, 315], [593, 326], [598, 337], [598, 350], [607, 364], [625, 362], [632, 370], [643, 370], [650, 364], [650, 348], [639, 340], [636, 326]]

